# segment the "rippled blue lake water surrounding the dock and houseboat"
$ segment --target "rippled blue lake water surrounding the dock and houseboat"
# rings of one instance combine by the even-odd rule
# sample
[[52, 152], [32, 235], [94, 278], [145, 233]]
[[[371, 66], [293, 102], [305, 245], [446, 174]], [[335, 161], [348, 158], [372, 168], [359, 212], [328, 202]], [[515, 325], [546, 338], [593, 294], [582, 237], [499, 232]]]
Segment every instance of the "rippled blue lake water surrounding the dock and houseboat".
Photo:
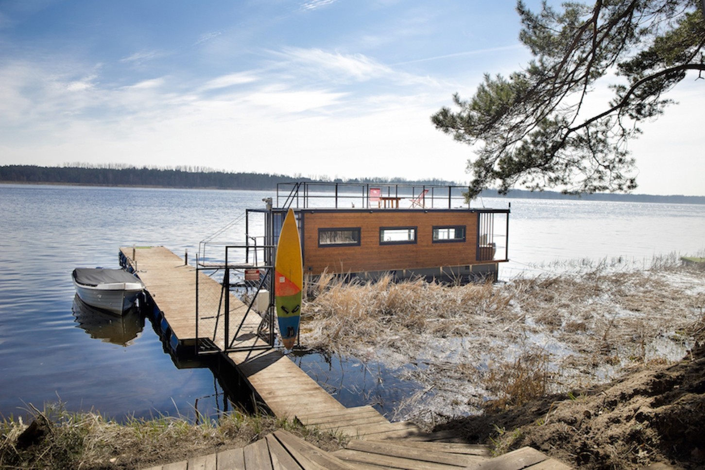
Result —
[[[118, 248], [132, 245], [188, 250], [193, 263], [200, 240], [246, 207], [264, 207], [272, 193], [0, 184], [0, 418], [57, 399], [116, 418], [231, 408], [214, 373], [175, 364], [142, 318], [94, 337], [106, 335], [74, 306], [71, 271], [118, 267]], [[705, 205], [501, 198], [474, 205], [508, 203], [511, 261], [501, 279], [555, 269], [548, 265], [555, 260], [623, 257], [648, 266], [655, 255], [705, 248]], [[384, 403], [415, 390], [381, 364], [319, 354], [295, 361], [346, 406], [378, 403], [384, 412]]]

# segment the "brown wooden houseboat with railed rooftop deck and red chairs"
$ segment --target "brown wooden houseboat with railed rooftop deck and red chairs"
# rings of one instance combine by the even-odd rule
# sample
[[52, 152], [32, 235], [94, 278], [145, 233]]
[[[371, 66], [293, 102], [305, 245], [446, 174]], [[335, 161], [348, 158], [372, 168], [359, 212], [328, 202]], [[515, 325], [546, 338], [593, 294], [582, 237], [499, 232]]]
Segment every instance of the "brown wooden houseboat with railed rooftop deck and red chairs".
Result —
[[246, 257], [272, 264], [272, 250], [257, 260], [252, 253], [276, 246], [292, 207], [305, 275], [496, 280], [508, 261], [510, 209], [471, 207], [464, 193], [462, 186], [280, 183], [264, 207], [246, 210]]

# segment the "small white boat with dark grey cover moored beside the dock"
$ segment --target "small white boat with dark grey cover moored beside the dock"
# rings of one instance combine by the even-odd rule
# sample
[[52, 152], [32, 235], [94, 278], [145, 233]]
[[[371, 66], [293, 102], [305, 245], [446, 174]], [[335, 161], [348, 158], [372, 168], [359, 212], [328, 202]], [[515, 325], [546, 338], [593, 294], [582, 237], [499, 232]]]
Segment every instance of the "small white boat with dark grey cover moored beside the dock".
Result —
[[82, 301], [118, 315], [135, 305], [145, 289], [140, 278], [122, 269], [77, 267], [71, 277]]

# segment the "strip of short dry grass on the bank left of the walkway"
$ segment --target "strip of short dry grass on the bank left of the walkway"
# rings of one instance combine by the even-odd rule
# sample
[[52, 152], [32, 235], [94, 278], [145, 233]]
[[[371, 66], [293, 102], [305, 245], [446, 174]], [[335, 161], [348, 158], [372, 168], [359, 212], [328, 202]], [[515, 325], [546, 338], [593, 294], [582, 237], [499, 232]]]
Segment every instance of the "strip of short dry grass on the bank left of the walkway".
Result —
[[[30, 405], [31, 406], [31, 405]], [[286, 429], [326, 450], [341, 448], [341, 436], [303, 428], [286, 420], [238, 411], [195, 425], [183, 418], [128, 419], [117, 423], [97, 413], [71, 413], [61, 404], [32, 408], [41, 438], [23, 445], [21, 418], [0, 422], [0, 468], [137, 469], [197, 455], [244, 447], [277, 429]]]

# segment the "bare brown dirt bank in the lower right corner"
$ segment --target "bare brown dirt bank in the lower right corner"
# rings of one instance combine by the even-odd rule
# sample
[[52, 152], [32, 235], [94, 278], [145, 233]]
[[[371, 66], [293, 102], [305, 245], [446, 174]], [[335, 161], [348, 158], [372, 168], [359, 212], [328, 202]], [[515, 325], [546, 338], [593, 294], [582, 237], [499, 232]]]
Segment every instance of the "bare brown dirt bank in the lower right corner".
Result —
[[497, 452], [530, 445], [581, 468], [705, 468], [704, 341], [673, 365], [637, 366], [608, 385], [437, 428], [490, 442]]

